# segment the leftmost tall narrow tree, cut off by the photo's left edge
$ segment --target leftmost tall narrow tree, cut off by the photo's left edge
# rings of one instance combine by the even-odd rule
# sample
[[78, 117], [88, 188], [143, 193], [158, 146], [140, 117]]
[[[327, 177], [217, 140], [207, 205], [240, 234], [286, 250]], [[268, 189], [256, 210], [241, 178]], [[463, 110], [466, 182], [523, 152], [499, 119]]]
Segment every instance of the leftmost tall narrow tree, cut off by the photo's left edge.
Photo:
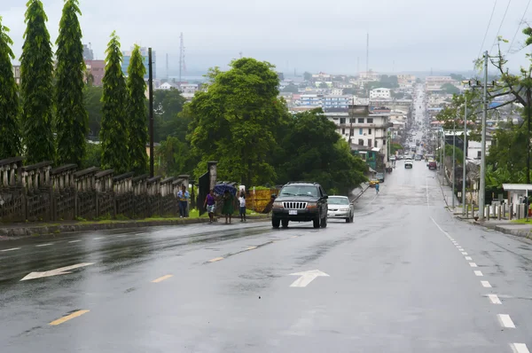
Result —
[[21, 147], [18, 87], [11, 62], [15, 55], [8, 32], [0, 16], [0, 160], [19, 156]]

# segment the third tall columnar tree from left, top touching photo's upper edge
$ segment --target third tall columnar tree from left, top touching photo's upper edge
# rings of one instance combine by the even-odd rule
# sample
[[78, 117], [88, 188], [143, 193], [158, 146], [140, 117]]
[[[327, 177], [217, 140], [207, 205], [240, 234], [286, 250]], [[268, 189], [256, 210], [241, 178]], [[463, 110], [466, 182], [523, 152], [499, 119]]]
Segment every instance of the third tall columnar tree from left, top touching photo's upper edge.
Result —
[[78, 0], [66, 0], [59, 22], [57, 40], [57, 144], [58, 162], [81, 165], [85, 155], [85, 135], [89, 130], [89, 115], [83, 105], [82, 28], [78, 15], [82, 12]]

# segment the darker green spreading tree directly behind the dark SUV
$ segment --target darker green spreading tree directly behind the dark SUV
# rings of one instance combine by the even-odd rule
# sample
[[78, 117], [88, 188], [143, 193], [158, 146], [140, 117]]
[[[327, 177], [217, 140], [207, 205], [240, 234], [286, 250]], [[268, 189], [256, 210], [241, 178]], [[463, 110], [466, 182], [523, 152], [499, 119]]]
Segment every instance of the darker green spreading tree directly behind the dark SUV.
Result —
[[278, 182], [317, 181], [325, 190], [348, 193], [366, 178], [367, 166], [354, 156], [321, 109], [296, 114], [278, 153]]

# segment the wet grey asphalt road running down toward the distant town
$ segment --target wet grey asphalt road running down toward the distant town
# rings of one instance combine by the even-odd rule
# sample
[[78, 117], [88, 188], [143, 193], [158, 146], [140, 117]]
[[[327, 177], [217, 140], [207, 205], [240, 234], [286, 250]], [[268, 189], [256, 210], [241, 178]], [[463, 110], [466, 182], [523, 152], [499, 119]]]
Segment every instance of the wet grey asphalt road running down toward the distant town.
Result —
[[[397, 161], [353, 224], [1, 241], [0, 351], [526, 353], [531, 242], [444, 207], [424, 161]], [[20, 281], [78, 263], [93, 264]], [[312, 270], [329, 276], [291, 286]]]

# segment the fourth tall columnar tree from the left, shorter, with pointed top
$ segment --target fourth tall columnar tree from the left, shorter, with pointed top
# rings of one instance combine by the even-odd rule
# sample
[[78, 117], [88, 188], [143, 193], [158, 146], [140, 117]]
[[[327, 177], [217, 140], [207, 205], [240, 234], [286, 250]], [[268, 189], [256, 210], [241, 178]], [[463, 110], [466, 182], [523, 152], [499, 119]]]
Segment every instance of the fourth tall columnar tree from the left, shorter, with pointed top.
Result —
[[118, 36], [113, 32], [107, 44], [106, 74], [103, 78], [102, 168], [124, 173], [129, 169], [128, 124], [126, 120], [126, 81], [121, 71], [121, 51]]

